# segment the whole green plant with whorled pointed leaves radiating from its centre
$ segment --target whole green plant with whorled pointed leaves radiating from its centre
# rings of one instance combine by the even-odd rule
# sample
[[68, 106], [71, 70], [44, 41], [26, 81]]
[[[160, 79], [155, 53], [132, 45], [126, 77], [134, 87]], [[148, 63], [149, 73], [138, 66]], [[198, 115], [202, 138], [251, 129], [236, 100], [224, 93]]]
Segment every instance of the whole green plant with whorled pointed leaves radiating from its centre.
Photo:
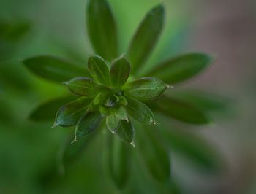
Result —
[[[162, 129], [159, 129], [158, 120], [153, 114], [156, 112], [156, 117], [164, 120], [162, 123], [169, 122], [169, 119], [166, 119], [169, 117], [190, 124], [210, 123], [208, 112], [202, 107], [195, 106], [178, 95], [171, 96], [165, 91], [173, 90], [170, 85], [183, 82], [203, 71], [211, 63], [211, 56], [188, 53], [161, 62], [151, 71], [141, 71], [161, 34], [165, 18], [164, 6], [160, 4], [148, 12], [133, 36], [127, 52], [121, 57], [118, 57], [116, 22], [108, 2], [91, 0], [86, 13], [89, 39], [97, 54], [88, 58], [88, 69], [75, 66], [61, 58], [44, 55], [23, 61], [34, 74], [53, 82], [64, 83], [80, 98], [67, 96], [42, 104], [31, 113], [31, 119], [52, 118], [56, 108], [62, 106], [56, 114], [53, 126], [76, 125], [74, 141], [99, 128], [105, 120], [107, 128], [121, 140], [133, 146], [138, 143], [138, 153], [143, 166], [159, 182], [166, 182], [170, 178], [170, 147], [178, 148], [180, 152], [195, 158], [197, 163], [202, 163], [207, 168], [219, 168], [216, 166], [216, 160], [212, 160], [211, 155], [208, 156], [208, 150], [199, 147], [198, 151], [198, 146], [191, 147], [187, 140], [184, 140], [186, 135], [170, 134], [170, 131], [164, 130], [166, 127], [162, 126]], [[195, 98], [197, 97], [194, 96]], [[64, 105], [66, 101], [71, 102]], [[205, 104], [209, 101], [211, 99], [205, 99]], [[202, 101], [197, 101], [197, 105], [200, 105], [200, 102]], [[201, 105], [205, 107], [205, 104]], [[132, 123], [135, 123], [135, 128]], [[103, 127], [105, 125], [102, 124]], [[134, 138], [137, 139], [135, 143]], [[191, 136], [192, 144], [197, 141], [193, 141], [193, 138]], [[170, 147], [166, 142], [171, 142]], [[116, 186], [122, 188], [127, 182], [131, 153], [126, 144], [116, 141], [110, 134], [106, 143], [108, 146], [105, 148], [108, 151], [105, 152], [105, 158], [108, 160], [106, 163], [110, 164], [110, 176]], [[205, 143], [202, 141], [201, 144], [203, 146]], [[76, 154], [77, 152], [69, 157], [75, 157]], [[120, 163], [116, 163], [116, 160], [120, 160]]]

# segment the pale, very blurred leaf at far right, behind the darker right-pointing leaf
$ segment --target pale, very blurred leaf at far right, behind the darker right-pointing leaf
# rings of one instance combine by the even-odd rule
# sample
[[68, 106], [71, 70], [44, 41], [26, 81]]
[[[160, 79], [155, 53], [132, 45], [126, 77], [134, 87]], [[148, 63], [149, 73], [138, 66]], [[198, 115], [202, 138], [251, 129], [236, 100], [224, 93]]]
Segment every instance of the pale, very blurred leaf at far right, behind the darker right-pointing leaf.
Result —
[[172, 90], [170, 96], [207, 112], [228, 112], [230, 106], [230, 99], [203, 90]]

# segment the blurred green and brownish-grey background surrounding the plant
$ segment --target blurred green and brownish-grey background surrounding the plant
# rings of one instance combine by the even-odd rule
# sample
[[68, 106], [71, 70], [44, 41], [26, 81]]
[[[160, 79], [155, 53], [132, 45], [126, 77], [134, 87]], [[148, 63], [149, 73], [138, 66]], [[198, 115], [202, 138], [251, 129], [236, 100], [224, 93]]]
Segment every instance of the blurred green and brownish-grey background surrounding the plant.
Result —
[[[109, 2], [124, 52], [140, 20], [159, 1]], [[229, 115], [217, 115], [214, 125], [195, 129], [222, 153], [225, 171], [207, 174], [174, 154], [172, 176], [181, 193], [256, 193], [256, 1], [163, 3], [165, 30], [145, 69], [187, 51], [211, 53], [216, 57], [214, 64], [176, 88], [219, 93], [232, 104]], [[65, 176], [45, 176], [72, 129], [53, 129], [52, 123], [28, 120], [29, 112], [40, 102], [67, 91], [30, 74], [20, 60], [49, 54], [85, 66], [86, 58], [93, 53], [86, 36], [85, 7], [86, 0], [0, 0], [0, 193], [113, 193], [102, 173], [100, 138], [88, 145]], [[7, 28], [23, 33], [8, 34]], [[134, 171], [130, 193], [148, 193], [146, 187], [157, 193], [146, 175], [139, 180]], [[141, 182], [143, 190], [138, 189]]]

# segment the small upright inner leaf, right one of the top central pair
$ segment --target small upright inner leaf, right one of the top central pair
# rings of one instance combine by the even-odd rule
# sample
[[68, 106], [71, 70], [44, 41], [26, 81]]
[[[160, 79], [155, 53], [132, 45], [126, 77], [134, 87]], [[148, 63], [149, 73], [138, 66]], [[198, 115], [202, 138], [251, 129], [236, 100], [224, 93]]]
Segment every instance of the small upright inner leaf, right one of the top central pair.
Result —
[[116, 88], [121, 88], [129, 77], [130, 64], [124, 58], [118, 58], [113, 62], [113, 65], [110, 69], [110, 79], [112, 85]]

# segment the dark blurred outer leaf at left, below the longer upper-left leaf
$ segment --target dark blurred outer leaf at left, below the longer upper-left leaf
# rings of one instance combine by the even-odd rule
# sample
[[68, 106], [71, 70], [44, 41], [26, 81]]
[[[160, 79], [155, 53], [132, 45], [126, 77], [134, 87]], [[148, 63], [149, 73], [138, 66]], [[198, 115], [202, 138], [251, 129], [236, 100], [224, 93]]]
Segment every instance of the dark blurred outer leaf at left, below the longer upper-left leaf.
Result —
[[56, 117], [56, 112], [63, 104], [67, 104], [70, 101], [74, 101], [76, 96], [64, 96], [61, 98], [54, 98], [50, 101], [46, 101], [40, 104], [36, 109], [34, 109], [29, 115], [29, 119], [33, 121], [48, 121], [54, 120]]

